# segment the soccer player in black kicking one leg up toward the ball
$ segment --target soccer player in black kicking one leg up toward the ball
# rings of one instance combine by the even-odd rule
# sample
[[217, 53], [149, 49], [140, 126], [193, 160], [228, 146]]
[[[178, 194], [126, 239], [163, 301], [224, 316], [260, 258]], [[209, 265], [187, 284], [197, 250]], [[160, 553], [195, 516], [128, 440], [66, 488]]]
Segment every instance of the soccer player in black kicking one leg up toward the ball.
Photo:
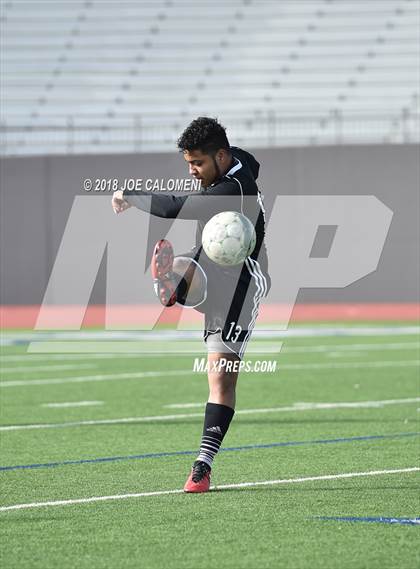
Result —
[[[174, 257], [169, 241], [158, 241], [151, 272], [155, 292], [164, 306], [179, 303], [205, 315], [209, 399], [200, 450], [184, 490], [206, 492], [213, 459], [234, 415], [238, 379], [234, 364], [243, 358], [260, 301], [270, 288], [265, 215], [255, 181], [258, 162], [248, 152], [230, 146], [224, 127], [216, 119], [193, 120], [179, 138], [178, 148], [190, 174], [201, 180], [199, 192], [174, 196], [119, 190], [113, 195], [112, 206], [116, 213], [135, 206], [158, 217], [198, 220], [195, 247]], [[204, 225], [221, 211], [241, 212], [255, 226], [255, 249], [239, 267], [217, 265], [202, 248]]]

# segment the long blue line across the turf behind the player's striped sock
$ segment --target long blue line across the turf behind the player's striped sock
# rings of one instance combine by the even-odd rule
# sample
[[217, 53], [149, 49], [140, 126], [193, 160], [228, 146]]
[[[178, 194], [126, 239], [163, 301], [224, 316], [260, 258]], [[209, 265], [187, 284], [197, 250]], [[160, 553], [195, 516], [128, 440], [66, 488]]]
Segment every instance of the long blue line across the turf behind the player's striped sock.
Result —
[[[219, 452], [237, 452], [243, 450], [253, 449], [266, 449], [288, 446], [301, 446], [301, 445], [320, 445], [320, 444], [336, 444], [336, 443], [351, 443], [358, 441], [373, 441], [384, 439], [395, 439], [402, 437], [418, 437], [420, 432], [415, 433], [397, 433], [393, 435], [365, 435], [360, 437], [346, 437], [341, 439], [315, 439], [312, 441], [285, 441], [281, 443], [267, 443], [256, 445], [244, 445], [239, 447], [224, 447]], [[117, 462], [122, 460], [141, 460], [144, 458], [163, 458], [166, 456], [185, 456], [195, 455], [198, 450], [178, 450], [172, 452], [151, 452], [147, 454], [132, 454], [128, 456], [105, 456], [100, 458], [86, 458], [80, 460], [63, 460], [60, 462], [44, 462], [35, 464], [17, 464], [14, 466], [0, 466], [0, 471], [6, 470], [28, 470], [32, 468], [54, 468], [56, 466], [71, 466], [76, 464], [100, 464], [104, 462]]]

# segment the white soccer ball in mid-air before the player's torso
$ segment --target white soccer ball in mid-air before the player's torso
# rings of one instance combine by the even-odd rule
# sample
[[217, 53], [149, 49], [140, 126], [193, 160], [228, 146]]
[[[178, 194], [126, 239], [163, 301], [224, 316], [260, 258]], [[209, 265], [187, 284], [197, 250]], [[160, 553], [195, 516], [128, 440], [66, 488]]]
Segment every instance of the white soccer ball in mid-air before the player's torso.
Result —
[[218, 213], [203, 229], [203, 249], [218, 265], [243, 263], [254, 250], [255, 242], [254, 226], [245, 215], [236, 211]]

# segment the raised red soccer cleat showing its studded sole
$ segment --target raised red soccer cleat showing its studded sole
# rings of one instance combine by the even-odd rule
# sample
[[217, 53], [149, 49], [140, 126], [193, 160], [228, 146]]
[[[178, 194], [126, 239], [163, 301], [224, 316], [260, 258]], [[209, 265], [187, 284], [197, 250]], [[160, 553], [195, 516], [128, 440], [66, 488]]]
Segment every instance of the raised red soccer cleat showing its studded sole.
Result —
[[166, 239], [155, 245], [152, 255], [152, 277], [155, 293], [163, 306], [173, 306], [176, 302], [176, 280], [172, 271], [174, 250]]

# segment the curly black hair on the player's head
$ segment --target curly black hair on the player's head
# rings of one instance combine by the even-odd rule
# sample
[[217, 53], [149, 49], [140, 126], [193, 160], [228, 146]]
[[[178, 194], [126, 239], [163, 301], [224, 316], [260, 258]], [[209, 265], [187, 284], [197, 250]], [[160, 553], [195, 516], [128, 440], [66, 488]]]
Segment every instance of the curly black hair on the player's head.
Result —
[[187, 126], [178, 139], [180, 151], [189, 152], [201, 150], [203, 154], [216, 154], [218, 150], [230, 149], [226, 136], [226, 129], [217, 121], [209, 117], [198, 117]]

